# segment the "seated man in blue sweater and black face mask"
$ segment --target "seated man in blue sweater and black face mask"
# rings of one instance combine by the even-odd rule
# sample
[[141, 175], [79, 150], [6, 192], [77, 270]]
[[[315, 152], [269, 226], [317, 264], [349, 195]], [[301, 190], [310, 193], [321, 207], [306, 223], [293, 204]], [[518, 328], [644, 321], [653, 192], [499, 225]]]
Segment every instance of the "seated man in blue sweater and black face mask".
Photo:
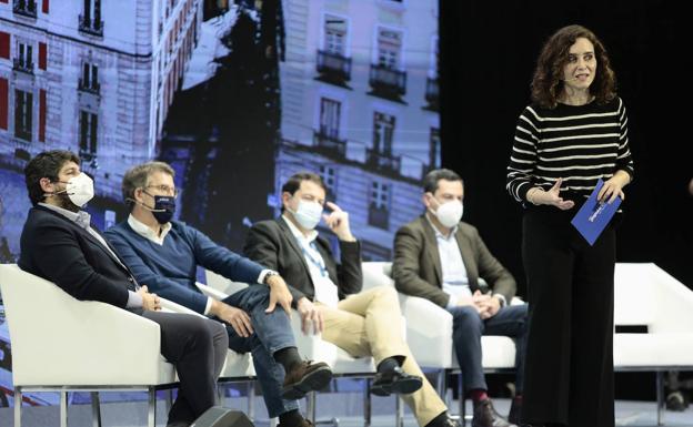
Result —
[[[324, 387], [332, 372], [324, 363], [303, 362], [299, 356], [287, 284], [277, 272], [171, 221], [178, 195], [173, 176], [173, 169], [162, 162], [130, 169], [122, 183], [130, 216], [107, 231], [108, 241], [151, 292], [227, 325], [229, 347], [252, 353], [268, 413], [279, 417], [280, 427], [311, 426], [299, 413], [297, 399]], [[251, 285], [223, 301], [209, 298], [195, 286], [198, 265]]]

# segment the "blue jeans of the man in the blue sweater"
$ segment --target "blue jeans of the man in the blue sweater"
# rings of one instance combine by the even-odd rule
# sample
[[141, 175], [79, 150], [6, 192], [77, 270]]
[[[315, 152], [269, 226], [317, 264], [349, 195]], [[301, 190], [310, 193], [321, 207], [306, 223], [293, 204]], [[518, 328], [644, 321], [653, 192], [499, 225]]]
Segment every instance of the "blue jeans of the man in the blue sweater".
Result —
[[284, 400], [281, 397], [285, 373], [283, 366], [273, 357], [282, 348], [295, 347], [287, 312], [278, 305], [272, 313], [264, 313], [270, 304], [270, 289], [264, 285], [250, 285], [228, 296], [223, 303], [250, 315], [254, 333], [248, 338], [238, 335], [231, 326], [224, 324], [229, 334], [229, 348], [252, 354], [270, 418], [298, 409], [297, 400]]

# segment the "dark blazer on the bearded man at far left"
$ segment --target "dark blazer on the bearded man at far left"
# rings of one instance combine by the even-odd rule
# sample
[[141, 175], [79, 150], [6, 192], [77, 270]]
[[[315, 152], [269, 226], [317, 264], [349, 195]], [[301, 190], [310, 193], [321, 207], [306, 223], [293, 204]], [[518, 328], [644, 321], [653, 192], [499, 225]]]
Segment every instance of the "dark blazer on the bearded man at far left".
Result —
[[77, 299], [124, 308], [128, 289], [134, 291], [132, 274], [96, 237], [43, 206], [29, 211], [20, 251], [21, 270], [53, 282]]

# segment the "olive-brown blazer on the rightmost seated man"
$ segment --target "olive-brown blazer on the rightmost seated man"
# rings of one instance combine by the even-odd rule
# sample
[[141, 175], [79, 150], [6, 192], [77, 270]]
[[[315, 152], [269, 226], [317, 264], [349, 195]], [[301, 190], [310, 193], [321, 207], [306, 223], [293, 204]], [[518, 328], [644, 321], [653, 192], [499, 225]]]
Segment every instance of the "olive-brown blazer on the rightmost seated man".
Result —
[[[461, 222], [455, 237], [472, 292], [479, 289], [481, 277], [491, 286], [493, 293], [502, 294], [510, 304], [516, 291], [515, 279], [491, 255], [476, 228]], [[442, 307], [448, 305], [450, 296], [442, 289], [443, 274], [435, 231], [424, 215], [396, 232], [392, 276], [401, 293], [421, 296]]]

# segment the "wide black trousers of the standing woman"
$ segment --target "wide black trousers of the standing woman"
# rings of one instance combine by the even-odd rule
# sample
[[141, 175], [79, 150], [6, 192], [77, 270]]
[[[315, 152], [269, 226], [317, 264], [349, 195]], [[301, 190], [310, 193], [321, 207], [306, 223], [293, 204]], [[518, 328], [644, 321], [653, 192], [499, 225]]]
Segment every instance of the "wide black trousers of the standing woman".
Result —
[[575, 210], [530, 207], [523, 218], [529, 332], [522, 419], [613, 427], [615, 231], [594, 246], [570, 221]]

